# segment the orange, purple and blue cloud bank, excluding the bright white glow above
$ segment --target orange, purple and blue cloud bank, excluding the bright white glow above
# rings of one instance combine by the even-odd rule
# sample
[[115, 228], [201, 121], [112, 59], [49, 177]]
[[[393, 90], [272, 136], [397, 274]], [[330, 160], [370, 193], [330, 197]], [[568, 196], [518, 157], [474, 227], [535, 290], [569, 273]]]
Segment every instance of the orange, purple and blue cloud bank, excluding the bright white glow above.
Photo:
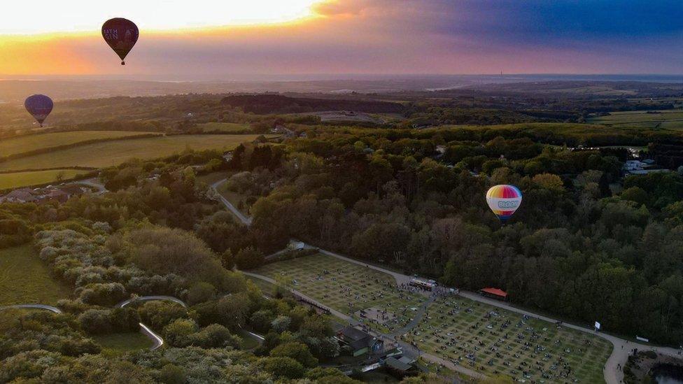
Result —
[[678, 1], [328, 0], [314, 14], [267, 26], [143, 30], [125, 68], [99, 36], [27, 40], [9, 51], [9, 62], [22, 64], [0, 62], [0, 73], [680, 73], [683, 62]]

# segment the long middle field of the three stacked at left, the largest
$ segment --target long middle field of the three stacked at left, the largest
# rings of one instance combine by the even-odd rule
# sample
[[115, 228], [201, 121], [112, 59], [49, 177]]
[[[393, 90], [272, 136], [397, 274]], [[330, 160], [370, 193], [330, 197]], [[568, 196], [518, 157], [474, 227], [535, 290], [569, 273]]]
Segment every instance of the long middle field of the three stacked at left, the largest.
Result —
[[118, 165], [131, 158], [154, 159], [169, 156], [188, 148], [230, 150], [245, 141], [253, 141], [256, 137], [257, 135], [182, 135], [106, 141], [13, 159], [0, 163], [0, 170], [21, 171], [61, 166], [101, 168]]

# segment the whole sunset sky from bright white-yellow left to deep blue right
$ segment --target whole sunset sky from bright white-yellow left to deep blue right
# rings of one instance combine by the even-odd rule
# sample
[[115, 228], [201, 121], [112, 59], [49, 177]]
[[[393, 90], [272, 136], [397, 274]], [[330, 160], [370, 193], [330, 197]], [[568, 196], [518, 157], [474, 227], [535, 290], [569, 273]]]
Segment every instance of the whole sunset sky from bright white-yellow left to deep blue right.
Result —
[[[140, 38], [120, 66], [101, 23]], [[683, 73], [680, 0], [33, 0], [0, 75]]]

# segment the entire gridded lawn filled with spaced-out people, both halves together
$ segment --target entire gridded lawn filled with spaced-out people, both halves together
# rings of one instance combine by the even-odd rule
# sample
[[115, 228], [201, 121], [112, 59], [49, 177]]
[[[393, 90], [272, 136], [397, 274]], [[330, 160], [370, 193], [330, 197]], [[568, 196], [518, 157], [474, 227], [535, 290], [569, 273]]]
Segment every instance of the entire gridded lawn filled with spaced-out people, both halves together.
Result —
[[[266, 264], [254, 272], [357, 319], [355, 311], [373, 307], [397, 315], [386, 324], [359, 319], [382, 332], [400, 329], [417, 314], [412, 308], [427, 300], [400, 291], [386, 273], [327, 255]], [[609, 342], [591, 334], [460, 296], [429, 304], [418, 325], [400, 337], [420, 350], [487, 376], [537, 383], [603, 383], [603, 367], [612, 352]]]

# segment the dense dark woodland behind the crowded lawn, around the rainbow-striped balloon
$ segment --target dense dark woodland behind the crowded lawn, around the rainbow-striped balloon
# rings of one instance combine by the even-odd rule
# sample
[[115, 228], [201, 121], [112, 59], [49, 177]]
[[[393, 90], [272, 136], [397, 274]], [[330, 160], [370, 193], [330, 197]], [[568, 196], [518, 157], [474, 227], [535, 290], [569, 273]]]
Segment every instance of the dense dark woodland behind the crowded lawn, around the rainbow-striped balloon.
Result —
[[[486, 129], [457, 140], [457, 132], [316, 129], [286, 148], [237, 150], [234, 188], [260, 196], [255, 231], [450, 286], [502, 287], [518, 304], [614, 332], [680, 341], [680, 173], [622, 179], [611, 150], [489, 139]], [[505, 226], [484, 199], [500, 183], [524, 194]]]

